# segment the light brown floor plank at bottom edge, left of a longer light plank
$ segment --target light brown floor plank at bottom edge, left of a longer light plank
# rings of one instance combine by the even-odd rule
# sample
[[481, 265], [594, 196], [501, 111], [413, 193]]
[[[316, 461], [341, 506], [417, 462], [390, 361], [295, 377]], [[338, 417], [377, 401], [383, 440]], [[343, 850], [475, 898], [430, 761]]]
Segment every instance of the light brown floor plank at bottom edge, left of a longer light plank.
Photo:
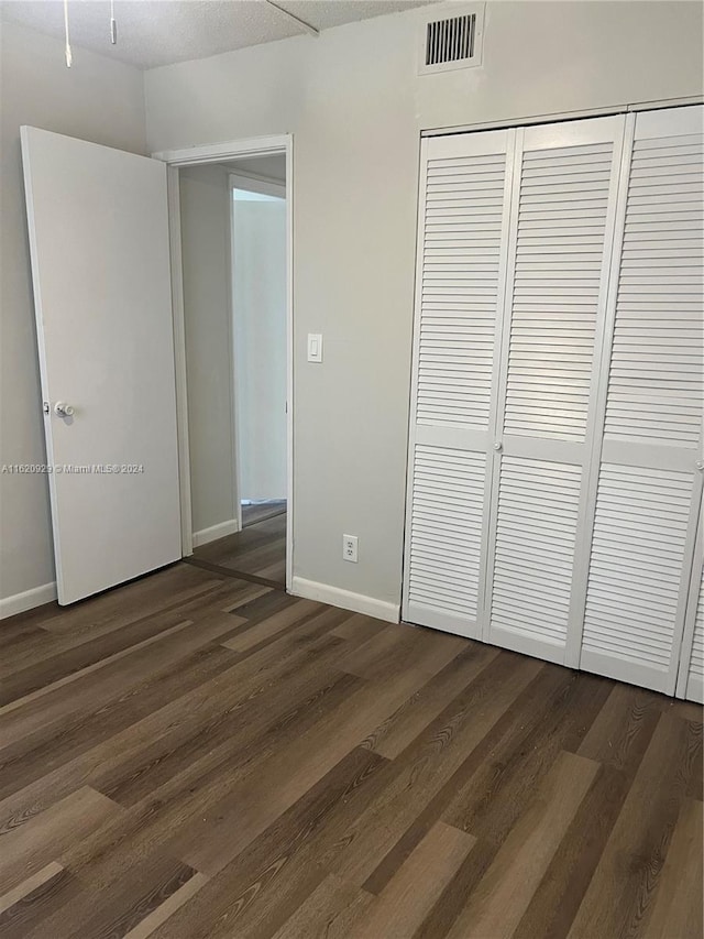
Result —
[[358, 919], [350, 939], [411, 939], [474, 843], [473, 836], [439, 821]]

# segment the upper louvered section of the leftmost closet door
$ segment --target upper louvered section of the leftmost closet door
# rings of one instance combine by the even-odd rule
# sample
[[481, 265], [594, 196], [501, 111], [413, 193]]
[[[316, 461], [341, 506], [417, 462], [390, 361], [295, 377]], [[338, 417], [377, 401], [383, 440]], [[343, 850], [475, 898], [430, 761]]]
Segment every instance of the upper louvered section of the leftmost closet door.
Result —
[[506, 154], [427, 164], [419, 424], [486, 428], [490, 419]]

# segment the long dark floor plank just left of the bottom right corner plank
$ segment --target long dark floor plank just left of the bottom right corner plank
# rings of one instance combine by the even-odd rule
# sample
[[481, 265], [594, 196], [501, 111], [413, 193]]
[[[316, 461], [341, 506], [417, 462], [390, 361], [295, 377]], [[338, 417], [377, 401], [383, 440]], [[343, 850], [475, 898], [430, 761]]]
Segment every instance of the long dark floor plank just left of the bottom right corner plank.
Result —
[[594, 872], [570, 939], [642, 933], [701, 735], [662, 714]]

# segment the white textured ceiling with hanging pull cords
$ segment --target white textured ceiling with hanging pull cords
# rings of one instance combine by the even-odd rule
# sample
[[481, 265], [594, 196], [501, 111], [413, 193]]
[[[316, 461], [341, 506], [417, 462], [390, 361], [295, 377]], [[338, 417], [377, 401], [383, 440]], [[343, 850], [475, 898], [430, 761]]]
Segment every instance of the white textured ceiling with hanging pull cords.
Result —
[[[276, 0], [318, 30], [422, 7], [433, 0]], [[64, 35], [62, 0], [2, 0], [2, 19]], [[109, 0], [69, 0], [74, 62], [78, 47], [154, 68], [274, 42], [306, 31], [265, 0], [114, 0], [118, 43], [110, 44]], [[311, 41], [314, 41], [311, 39]]]

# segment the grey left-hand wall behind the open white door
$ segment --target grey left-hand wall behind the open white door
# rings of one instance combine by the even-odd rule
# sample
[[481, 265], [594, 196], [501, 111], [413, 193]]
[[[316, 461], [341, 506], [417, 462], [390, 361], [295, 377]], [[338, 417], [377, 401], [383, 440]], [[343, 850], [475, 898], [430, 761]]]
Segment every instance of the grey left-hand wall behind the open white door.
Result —
[[[66, 68], [63, 43], [0, 24], [0, 465], [43, 463], [44, 432], [20, 159], [20, 125], [145, 152], [142, 74], [90, 52]], [[0, 614], [54, 580], [45, 476], [0, 473]], [[48, 590], [32, 599], [51, 599]]]

